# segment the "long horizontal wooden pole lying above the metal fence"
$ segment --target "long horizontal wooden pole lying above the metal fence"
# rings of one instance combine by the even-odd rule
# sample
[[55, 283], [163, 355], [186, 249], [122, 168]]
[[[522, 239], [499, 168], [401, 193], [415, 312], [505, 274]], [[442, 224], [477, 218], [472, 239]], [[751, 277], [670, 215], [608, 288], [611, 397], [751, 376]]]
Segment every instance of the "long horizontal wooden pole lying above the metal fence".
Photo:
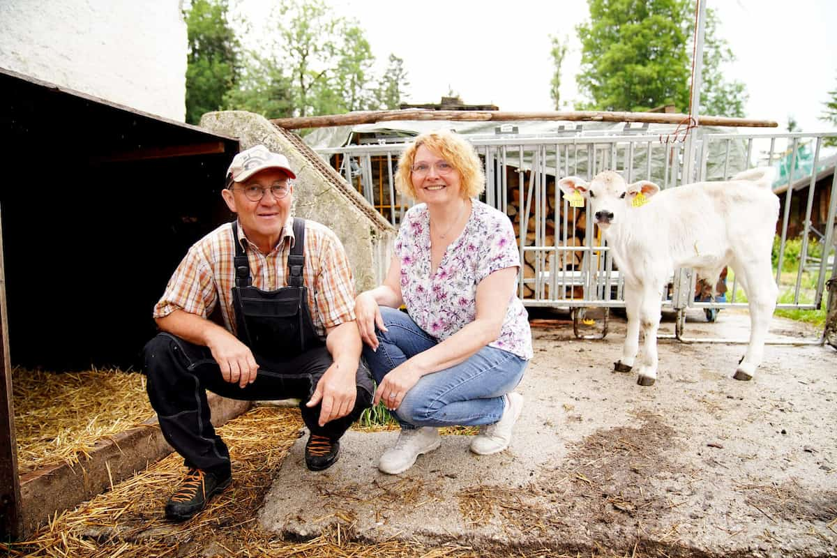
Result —
[[[604, 112], [575, 110], [568, 112], [505, 112], [501, 110], [366, 110], [345, 115], [306, 116], [300, 118], [275, 118], [275, 125], [287, 130], [299, 128], [324, 128], [326, 126], [373, 124], [393, 120], [465, 120], [475, 122], [505, 120], [591, 120], [594, 122], [650, 122], [655, 124], [685, 124], [688, 115], [660, 112]], [[701, 125], [747, 128], [775, 128], [773, 120], [727, 118], [725, 116], [701, 116]]]

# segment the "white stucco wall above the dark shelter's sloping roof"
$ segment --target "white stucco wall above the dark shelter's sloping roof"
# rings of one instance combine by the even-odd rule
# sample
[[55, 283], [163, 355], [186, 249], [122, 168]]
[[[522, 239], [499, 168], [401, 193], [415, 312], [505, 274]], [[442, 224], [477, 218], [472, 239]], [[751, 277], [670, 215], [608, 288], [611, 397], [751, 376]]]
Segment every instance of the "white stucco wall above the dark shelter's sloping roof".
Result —
[[0, 0], [0, 67], [172, 120], [186, 115], [180, 0]]

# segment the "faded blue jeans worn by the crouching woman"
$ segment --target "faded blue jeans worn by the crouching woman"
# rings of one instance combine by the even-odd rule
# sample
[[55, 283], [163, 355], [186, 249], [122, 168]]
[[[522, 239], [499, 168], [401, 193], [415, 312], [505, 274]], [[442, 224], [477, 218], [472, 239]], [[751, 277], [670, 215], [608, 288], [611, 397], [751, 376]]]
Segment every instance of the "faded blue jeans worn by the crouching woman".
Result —
[[[377, 351], [363, 346], [363, 356], [378, 384], [396, 366], [438, 344], [408, 315], [381, 307], [388, 331], [376, 328]], [[403, 429], [452, 425], [479, 426], [500, 420], [506, 399], [523, 377], [528, 361], [485, 346], [468, 360], [422, 376], [395, 410]]]

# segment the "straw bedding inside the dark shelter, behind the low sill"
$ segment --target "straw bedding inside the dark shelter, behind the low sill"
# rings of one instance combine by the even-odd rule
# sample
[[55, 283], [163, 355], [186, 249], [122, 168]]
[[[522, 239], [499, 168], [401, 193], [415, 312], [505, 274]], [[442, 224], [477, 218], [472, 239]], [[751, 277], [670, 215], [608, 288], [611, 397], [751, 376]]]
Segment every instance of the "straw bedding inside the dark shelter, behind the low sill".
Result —
[[154, 415], [146, 377], [119, 370], [12, 371], [18, 471], [78, 463], [96, 442]]

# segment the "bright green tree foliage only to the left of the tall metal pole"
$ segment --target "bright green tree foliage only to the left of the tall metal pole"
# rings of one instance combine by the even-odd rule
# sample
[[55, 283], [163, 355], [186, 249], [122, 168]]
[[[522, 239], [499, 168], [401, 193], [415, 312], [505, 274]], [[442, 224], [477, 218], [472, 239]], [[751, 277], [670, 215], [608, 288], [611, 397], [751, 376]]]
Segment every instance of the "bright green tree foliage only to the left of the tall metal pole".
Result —
[[579, 90], [593, 110], [649, 110], [689, 96], [687, 0], [588, 0], [590, 20], [576, 31], [582, 44]]

